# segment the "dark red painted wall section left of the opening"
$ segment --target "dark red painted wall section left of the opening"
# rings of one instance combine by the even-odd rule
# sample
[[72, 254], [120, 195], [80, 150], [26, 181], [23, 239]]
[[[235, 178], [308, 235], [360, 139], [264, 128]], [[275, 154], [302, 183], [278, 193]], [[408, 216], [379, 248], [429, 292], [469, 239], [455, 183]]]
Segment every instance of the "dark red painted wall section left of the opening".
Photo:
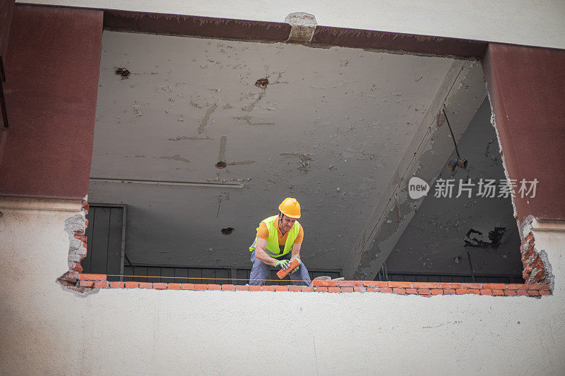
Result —
[[0, 195], [88, 193], [102, 11], [16, 5], [0, 131]]

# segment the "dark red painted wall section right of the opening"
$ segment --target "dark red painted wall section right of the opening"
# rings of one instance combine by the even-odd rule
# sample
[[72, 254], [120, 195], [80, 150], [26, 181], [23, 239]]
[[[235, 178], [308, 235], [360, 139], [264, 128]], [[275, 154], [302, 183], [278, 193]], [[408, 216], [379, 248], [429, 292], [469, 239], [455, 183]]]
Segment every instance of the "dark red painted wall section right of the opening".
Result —
[[482, 65], [509, 178], [539, 181], [518, 222], [564, 220], [565, 51], [489, 44]]

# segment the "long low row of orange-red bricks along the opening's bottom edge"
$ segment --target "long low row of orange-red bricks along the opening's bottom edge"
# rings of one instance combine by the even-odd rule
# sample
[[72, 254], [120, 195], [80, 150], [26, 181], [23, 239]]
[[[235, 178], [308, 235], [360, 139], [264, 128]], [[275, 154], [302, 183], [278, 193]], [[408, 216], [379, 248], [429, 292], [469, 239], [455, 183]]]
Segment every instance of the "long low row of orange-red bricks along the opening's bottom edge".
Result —
[[239, 284], [178, 284], [163, 282], [108, 282], [105, 274], [80, 274], [78, 286], [83, 289], [112, 287], [157, 290], [198, 291], [292, 291], [319, 293], [396, 293], [398, 295], [489, 295], [489, 296], [547, 296], [548, 284], [467, 284], [398, 281], [312, 281], [311, 286], [243, 286]]

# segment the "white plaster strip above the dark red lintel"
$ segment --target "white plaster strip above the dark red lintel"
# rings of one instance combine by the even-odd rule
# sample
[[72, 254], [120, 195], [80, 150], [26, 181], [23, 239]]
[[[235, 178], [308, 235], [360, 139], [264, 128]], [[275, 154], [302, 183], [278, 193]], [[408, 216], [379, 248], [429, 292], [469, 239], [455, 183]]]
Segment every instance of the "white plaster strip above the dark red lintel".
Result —
[[318, 25], [565, 48], [564, 0], [24, 0], [18, 3], [120, 9], [284, 22], [290, 13]]

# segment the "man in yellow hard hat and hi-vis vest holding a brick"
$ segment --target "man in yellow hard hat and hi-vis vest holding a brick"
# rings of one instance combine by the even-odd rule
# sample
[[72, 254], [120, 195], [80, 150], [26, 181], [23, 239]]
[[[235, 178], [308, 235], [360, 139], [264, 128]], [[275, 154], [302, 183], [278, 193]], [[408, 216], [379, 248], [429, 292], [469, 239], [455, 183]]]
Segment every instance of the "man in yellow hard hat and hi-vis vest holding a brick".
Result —
[[300, 265], [290, 272], [289, 277], [297, 286], [310, 286], [308, 269], [300, 261], [300, 247], [304, 230], [298, 223], [300, 204], [295, 198], [285, 198], [278, 206], [278, 215], [261, 221], [257, 235], [249, 250], [251, 251], [251, 274], [249, 284], [265, 284], [269, 267], [287, 269], [292, 260]]

